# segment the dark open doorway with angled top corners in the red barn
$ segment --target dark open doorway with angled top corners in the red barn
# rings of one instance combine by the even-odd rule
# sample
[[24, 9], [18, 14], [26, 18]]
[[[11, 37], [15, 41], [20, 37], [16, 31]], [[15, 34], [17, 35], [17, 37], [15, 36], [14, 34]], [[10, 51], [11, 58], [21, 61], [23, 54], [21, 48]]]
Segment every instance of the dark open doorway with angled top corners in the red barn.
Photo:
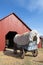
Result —
[[7, 48], [13, 48], [13, 46], [14, 46], [13, 38], [15, 37], [16, 34], [17, 34], [17, 32], [14, 32], [14, 31], [9, 31], [6, 34], [5, 40], [6, 40]]

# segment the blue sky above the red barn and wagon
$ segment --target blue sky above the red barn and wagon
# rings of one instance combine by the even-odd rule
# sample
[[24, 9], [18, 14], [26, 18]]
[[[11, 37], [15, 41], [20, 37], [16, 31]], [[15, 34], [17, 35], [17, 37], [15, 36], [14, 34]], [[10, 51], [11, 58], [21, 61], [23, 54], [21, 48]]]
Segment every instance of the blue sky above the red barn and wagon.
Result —
[[0, 0], [0, 19], [12, 12], [43, 35], [43, 0]]

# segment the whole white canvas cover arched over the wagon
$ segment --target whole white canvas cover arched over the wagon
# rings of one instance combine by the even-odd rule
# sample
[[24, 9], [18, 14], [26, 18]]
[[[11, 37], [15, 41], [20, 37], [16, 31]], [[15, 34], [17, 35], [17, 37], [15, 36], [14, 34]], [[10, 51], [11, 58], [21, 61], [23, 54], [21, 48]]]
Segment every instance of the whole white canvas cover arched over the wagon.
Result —
[[23, 34], [17, 34], [14, 37], [14, 42], [18, 45], [26, 45], [29, 43], [29, 41], [33, 41], [33, 37], [36, 36], [37, 37], [37, 44], [39, 43], [39, 34], [37, 33], [37, 31], [32, 30], [31, 32], [26, 32]]

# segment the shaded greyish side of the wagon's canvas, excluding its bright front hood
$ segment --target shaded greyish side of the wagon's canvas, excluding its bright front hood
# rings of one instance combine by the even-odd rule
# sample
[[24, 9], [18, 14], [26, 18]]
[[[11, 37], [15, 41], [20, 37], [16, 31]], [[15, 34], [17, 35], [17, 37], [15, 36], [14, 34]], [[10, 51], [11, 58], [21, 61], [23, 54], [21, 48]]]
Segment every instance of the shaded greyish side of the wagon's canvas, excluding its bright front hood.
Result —
[[14, 42], [19, 44], [19, 45], [25, 45], [25, 44], [28, 44], [29, 42], [29, 33], [26, 32], [24, 34], [17, 34], [15, 37], [14, 37]]

